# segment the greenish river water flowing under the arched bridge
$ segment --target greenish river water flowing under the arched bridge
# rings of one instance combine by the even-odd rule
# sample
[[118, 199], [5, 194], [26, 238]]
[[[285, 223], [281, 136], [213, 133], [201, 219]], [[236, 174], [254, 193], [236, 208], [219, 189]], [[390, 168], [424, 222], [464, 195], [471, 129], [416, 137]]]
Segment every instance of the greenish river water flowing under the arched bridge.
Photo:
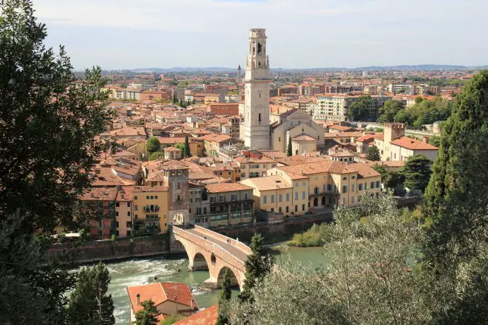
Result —
[[[281, 252], [280, 248], [274, 248]], [[290, 247], [291, 259], [302, 263], [311, 263], [319, 266], [326, 258], [322, 247]], [[129, 324], [130, 307], [126, 288], [132, 285], [152, 283], [154, 277], [159, 282], [184, 282], [192, 290], [195, 300], [200, 308], [206, 308], [219, 301], [220, 290], [204, 288], [203, 282], [209, 278], [208, 271], [188, 272], [188, 259], [186, 256], [170, 257], [158, 256], [150, 259], [130, 259], [107, 264], [112, 278], [108, 292], [112, 294], [115, 305], [116, 324]], [[237, 295], [238, 288], [233, 290]]]

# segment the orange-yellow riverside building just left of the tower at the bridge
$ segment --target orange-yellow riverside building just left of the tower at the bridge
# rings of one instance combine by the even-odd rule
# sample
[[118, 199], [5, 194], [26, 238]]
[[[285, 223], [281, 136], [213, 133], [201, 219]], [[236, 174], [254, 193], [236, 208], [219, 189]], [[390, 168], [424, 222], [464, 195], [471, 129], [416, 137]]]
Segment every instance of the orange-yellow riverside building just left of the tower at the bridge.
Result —
[[135, 235], [168, 232], [168, 215], [168, 187], [134, 187]]

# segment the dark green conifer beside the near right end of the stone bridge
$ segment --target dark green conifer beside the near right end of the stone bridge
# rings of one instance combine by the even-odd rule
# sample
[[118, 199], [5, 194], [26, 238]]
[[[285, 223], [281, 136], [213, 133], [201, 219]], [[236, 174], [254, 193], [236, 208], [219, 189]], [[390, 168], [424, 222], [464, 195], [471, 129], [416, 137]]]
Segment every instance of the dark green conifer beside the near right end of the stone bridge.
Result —
[[245, 261], [245, 280], [243, 291], [239, 298], [241, 301], [253, 301], [252, 291], [257, 283], [260, 283], [267, 273], [271, 270], [272, 262], [262, 247], [264, 238], [261, 234], [255, 234], [251, 238], [250, 249], [252, 254]]

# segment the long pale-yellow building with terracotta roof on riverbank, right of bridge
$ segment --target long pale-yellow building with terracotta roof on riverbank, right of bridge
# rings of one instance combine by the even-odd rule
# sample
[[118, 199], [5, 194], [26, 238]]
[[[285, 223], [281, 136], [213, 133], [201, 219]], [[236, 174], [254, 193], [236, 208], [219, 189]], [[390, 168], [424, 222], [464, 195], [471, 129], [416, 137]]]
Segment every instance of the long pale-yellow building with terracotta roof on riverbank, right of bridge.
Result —
[[267, 177], [245, 179], [253, 188], [255, 210], [303, 215], [314, 206], [354, 207], [361, 196], [378, 196], [381, 175], [361, 163], [327, 160], [276, 167]]

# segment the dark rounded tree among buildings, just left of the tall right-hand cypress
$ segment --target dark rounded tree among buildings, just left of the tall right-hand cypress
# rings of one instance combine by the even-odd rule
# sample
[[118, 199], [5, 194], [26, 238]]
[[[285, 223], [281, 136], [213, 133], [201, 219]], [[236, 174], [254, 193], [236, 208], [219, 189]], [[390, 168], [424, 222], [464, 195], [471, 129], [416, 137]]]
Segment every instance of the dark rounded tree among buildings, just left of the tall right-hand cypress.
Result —
[[424, 191], [431, 178], [431, 165], [432, 160], [425, 155], [410, 156], [400, 172], [405, 177], [404, 186]]

